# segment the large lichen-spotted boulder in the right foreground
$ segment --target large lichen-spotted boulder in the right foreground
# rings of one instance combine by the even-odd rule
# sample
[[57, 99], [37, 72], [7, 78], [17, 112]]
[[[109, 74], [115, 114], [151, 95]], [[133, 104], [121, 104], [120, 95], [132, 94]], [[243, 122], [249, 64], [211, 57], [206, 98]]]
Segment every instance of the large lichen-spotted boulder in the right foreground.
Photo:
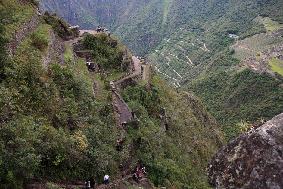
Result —
[[208, 163], [215, 188], [283, 188], [283, 113], [222, 146]]

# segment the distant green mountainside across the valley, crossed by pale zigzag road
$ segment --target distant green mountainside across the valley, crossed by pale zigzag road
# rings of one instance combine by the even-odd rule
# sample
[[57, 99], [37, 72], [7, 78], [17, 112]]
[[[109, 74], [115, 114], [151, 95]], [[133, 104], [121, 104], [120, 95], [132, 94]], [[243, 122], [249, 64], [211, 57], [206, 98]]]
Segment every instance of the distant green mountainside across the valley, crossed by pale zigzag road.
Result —
[[[44, 0], [41, 2], [47, 6]], [[48, 6], [51, 7], [51, 5]], [[182, 86], [183, 90], [193, 91], [199, 96], [209, 112], [216, 117], [219, 128], [225, 132], [227, 140], [238, 135], [238, 131], [234, 132], [232, 128], [237, 121], [241, 119], [256, 121], [259, 117], [270, 119], [283, 111], [280, 75], [270, 78], [265, 74], [259, 75], [245, 71], [244, 73], [248, 74], [246, 77], [235, 80], [235, 77], [238, 77], [237, 74], [225, 73], [226, 69], [239, 64], [240, 59], [247, 57], [250, 53], [245, 49], [247, 54], [244, 55], [243, 49], [238, 47], [235, 50], [230, 49], [229, 46], [235, 44], [236, 40], [229, 37], [229, 34], [238, 35], [240, 41], [254, 34], [266, 32], [258, 15], [262, 18], [270, 18], [270, 21], [264, 21], [269, 22], [269, 25], [266, 25], [269, 31], [275, 28], [272, 24], [280, 29], [283, 23], [282, 1], [153, 0], [110, 1], [107, 4], [88, 1], [88, 5], [86, 2], [80, 2], [79, 5], [84, 10], [90, 10], [91, 7], [89, 14], [98, 21], [98, 24], [108, 27], [110, 32], [119, 37], [119, 41], [125, 44], [133, 54], [148, 55], [148, 61], [159, 69], [158, 74], [170, 86]], [[66, 2], [66, 6], [70, 7], [70, 2]], [[64, 9], [63, 6], [57, 6], [58, 9], [54, 7], [50, 9], [54, 11]], [[47, 7], [44, 10], [47, 10]], [[98, 10], [103, 11], [98, 14]], [[84, 14], [78, 15], [84, 16]], [[69, 18], [72, 20], [71, 16], [67, 17]], [[82, 22], [76, 22], [76, 24], [82, 24]], [[266, 40], [263, 39], [265, 40], [263, 42], [254, 42], [251, 38], [251, 43], [264, 43], [263, 45], [270, 47], [281, 44], [280, 39], [280, 36], [278, 40], [268, 37]], [[272, 62], [270, 64], [276, 65]], [[256, 93], [258, 95], [254, 95], [253, 98], [250, 98], [248, 92], [239, 92], [240, 88], [246, 91], [253, 90], [244, 80], [246, 78], [249, 78], [249, 83], [263, 83], [264, 90], [262, 85], [256, 85], [254, 90], [258, 91]], [[258, 81], [258, 78], [262, 78], [262, 81]], [[215, 84], [214, 80], [217, 80], [218, 85], [216, 94], [214, 94], [216, 89], [208, 85], [211, 82]], [[199, 88], [200, 84], [207, 84], [207, 86]], [[219, 95], [222, 100], [219, 100]], [[262, 96], [266, 98], [263, 99]], [[229, 98], [235, 100], [226, 103]], [[274, 104], [274, 109], [265, 114], [264, 107], [270, 104]], [[220, 114], [222, 116], [218, 116]], [[222, 117], [227, 120], [222, 120]]]

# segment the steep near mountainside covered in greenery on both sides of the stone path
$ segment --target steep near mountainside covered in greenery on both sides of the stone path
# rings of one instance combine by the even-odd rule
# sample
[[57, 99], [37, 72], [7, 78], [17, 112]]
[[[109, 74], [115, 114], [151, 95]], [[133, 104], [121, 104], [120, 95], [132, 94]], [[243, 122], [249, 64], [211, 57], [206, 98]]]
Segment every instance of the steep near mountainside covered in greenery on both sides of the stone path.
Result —
[[[53, 28], [59, 32], [56, 16], [39, 16], [37, 28], [24, 36], [10, 58], [5, 46], [10, 36], [29, 24], [27, 18], [36, 15], [31, 7], [36, 3], [0, 2], [5, 13], [0, 14], [4, 47], [0, 54], [0, 188], [25, 188], [30, 181], [48, 179], [69, 183], [91, 175], [101, 184], [104, 172], [110, 180], [121, 177], [119, 165], [131, 156], [146, 166], [156, 186], [210, 188], [204, 168], [225, 139], [193, 93], [176, 93], [152, 72], [149, 88], [136, 85], [121, 92], [136, 111], [127, 129], [121, 127], [116, 124], [118, 113], [111, 108], [116, 102], [109, 83], [102, 81], [102, 75], [90, 75], [85, 60], [74, 59], [71, 46], [61, 38], [52, 42]], [[103, 48], [89, 48], [110, 64], [105, 67], [116, 67], [120, 60], [112, 43], [115, 37], [97, 34], [93, 38]], [[91, 43], [91, 34], [83, 42]], [[54, 58], [46, 65], [44, 60], [53, 50]], [[166, 132], [161, 129], [165, 118], [159, 116], [164, 109]], [[140, 131], [133, 129], [137, 125]], [[124, 142], [122, 152], [116, 150], [117, 138]]]

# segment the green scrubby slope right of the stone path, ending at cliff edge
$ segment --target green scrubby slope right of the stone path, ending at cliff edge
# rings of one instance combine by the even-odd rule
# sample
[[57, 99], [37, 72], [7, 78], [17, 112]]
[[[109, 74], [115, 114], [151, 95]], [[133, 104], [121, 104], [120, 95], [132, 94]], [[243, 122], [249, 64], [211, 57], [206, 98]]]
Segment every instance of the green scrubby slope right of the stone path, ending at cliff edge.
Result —
[[[138, 119], [129, 120], [127, 143], [134, 142], [138, 159], [151, 181], [160, 187], [207, 188], [204, 166], [223, 139], [215, 121], [194, 94], [175, 93], [155, 73], [151, 88], [128, 87], [120, 92]], [[168, 130], [163, 133], [165, 107]], [[131, 129], [140, 124], [141, 133]], [[214, 130], [214, 131], [212, 131]], [[177, 187], [177, 188], [178, 188]]]

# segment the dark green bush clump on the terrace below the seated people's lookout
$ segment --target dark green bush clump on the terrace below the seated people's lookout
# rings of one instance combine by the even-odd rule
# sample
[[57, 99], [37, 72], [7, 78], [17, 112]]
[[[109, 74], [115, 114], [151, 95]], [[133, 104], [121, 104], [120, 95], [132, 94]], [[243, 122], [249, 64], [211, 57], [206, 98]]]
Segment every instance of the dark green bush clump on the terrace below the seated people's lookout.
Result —
[[92, 50], [92, 54], [95, 56], [93, 61], [97, 62], [99, 67], [111, 69], [120, 65], [116, 43], [111, 44], [107, 34], [85, 34], [82, 43]]

